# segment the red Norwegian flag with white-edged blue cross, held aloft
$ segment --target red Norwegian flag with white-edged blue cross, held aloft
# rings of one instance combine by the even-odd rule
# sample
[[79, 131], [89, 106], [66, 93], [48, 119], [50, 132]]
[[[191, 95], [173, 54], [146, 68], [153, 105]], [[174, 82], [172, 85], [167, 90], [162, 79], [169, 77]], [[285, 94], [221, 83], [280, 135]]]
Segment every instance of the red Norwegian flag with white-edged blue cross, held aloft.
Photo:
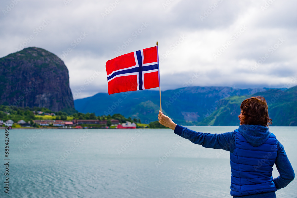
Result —
[[107, 61], [106, 73], [109, 95], [159, 87], [157, 46]]

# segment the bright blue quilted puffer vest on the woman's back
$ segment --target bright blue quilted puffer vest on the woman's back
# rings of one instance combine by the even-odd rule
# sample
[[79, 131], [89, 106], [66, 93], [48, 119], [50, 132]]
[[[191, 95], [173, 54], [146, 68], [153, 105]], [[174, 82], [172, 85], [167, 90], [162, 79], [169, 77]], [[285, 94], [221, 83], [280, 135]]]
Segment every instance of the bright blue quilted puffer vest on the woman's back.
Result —
[[259, 146], [252, 146], [236, 129], [235, 150], [230, 153], [232, 196], [277, 191], [272, 167], [277, 157], [277, 139], [270, 133]]

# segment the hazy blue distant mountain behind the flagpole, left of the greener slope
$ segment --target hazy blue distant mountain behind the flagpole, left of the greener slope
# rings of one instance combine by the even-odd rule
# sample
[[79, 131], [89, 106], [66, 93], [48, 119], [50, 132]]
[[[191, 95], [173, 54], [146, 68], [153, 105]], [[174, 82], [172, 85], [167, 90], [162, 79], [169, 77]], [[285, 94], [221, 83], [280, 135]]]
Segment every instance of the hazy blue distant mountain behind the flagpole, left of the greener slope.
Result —
[[[198, 124], [215, 111], [220, 99], [266, 91], [262, 88], [185, 87], [162, 91], [162, 111], [180, 124]], [[81, 113], [108, 115], [120, 113], [144, 122], [157, 120], [160, 109], [159, 91], [142, 90], [108, 95], [98, 93], [74, 101]]]

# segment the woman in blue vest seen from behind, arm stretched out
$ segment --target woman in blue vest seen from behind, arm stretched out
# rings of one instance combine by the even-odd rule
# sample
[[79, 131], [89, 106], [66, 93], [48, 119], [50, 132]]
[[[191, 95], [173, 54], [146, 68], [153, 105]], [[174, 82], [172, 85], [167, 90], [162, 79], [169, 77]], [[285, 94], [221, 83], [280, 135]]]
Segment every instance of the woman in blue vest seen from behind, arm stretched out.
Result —
[[[271, 119], [264, 97], [245, 99], [238, 115], [240, 126], [234, 132], [200, 133], [174, 123], [159, 111], [159, 123], [175, 134], [206, 148], [230, 151], [231, 192], [233, 197], [276, 198], [275, 191], [284, 188], [295, 177], [282, 144], [269, 132]], [[272, 178], [276, 164], [279, 177]]]

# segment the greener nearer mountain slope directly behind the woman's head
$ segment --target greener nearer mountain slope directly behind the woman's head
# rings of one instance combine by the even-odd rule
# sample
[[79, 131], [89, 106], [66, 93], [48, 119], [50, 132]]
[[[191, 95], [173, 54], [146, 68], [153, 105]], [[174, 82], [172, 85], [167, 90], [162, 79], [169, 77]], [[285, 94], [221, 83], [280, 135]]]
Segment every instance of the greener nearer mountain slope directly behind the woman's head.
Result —
[[297, 86], [287, 90], [269, 89], [256, 94], [230, 96], [218, 102], [216, 110], [199, 125], [239, 125], [240, 104], [252, 96], [263, 96], [268, 104], [272, 126], [297, 126]]

